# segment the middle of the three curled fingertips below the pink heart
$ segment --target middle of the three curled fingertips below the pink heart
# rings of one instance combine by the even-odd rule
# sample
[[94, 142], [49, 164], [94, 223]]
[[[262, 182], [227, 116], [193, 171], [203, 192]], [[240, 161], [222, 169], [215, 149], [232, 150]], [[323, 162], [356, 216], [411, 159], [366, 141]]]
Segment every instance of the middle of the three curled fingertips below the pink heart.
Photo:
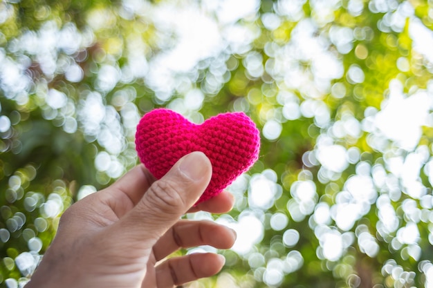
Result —
[[236, 232], [221, 224], [182, 220], [156, 242], [154, 255], [159, 261], [180, 248], [210, 245], [216, 249], [229, 249], [234, 240]]

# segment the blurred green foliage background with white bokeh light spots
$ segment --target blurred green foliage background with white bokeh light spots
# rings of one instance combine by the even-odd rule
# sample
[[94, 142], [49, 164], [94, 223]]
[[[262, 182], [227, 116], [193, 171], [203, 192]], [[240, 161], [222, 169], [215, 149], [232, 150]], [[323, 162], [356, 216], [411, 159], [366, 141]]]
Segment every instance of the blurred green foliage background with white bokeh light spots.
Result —
[[433, 287], [432, 29], [431, 0], [0, 1], [0, 286], [163, 106], [261, 131], [233, 211], [185, 216], [238, 233], [188, 287]]

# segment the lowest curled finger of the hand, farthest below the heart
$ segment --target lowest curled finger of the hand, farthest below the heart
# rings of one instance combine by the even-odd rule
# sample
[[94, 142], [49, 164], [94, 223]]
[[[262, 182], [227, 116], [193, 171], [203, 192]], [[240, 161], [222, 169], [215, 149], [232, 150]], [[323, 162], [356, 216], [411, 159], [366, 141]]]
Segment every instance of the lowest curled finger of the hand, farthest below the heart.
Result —
[[214, 253], [197, 253], [170, 258], [156, 267], [156, 287], [173, 288], [199, 278], [210, 277], [223, 268], [225, 259]]

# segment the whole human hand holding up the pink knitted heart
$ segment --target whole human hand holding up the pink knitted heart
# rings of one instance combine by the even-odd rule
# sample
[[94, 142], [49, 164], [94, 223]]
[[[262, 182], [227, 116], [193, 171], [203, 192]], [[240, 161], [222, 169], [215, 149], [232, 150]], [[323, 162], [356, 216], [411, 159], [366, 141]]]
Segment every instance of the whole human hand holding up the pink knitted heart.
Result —
[[160, 180], [138, 165], [107, 189], [76, 202], [60, 218], [57, 236], [26, 288], [165, 288], [218, 273], [224, 259], [214, 253], [164, 260], [181, 247], [232, 247], [231, 229], [180, 220], [186, 212], [231, 209], [233, 198], [225, 191], [192, 207], [211, 175], [208, 158], [194, 152]]

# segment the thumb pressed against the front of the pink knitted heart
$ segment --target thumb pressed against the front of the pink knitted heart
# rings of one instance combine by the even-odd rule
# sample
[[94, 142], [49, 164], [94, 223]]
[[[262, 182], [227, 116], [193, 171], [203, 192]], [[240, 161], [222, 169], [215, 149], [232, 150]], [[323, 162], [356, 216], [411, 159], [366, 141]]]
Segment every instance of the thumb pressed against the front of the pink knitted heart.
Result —
[[158, 240], [200, 198], [210, 182], [212, 165], [202, 152], [182, 157], [154, 182], [120, 227], [142, 240]]

